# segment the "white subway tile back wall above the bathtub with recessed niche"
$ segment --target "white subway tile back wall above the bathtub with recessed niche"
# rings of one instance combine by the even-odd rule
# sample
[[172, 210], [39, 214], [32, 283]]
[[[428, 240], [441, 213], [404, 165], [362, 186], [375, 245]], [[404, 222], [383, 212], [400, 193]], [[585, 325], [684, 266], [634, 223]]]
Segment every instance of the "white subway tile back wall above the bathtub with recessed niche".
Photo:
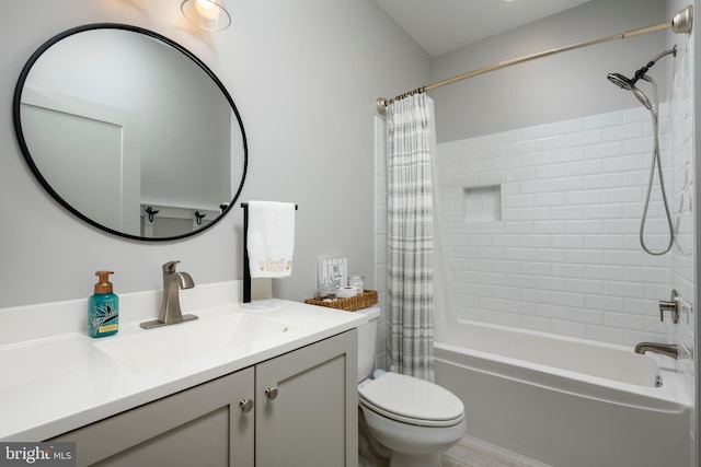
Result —
[[[667, 179], [671, 140], [662, 135]], [[617, 343], [663, 340], [657, 301], [670, 293], [671, 256], [639, 242], [653, 141], [641, 106], [439, 144], [458, 315]], [[652, 248], [666, 245], [665, 229], [656, 184]]]

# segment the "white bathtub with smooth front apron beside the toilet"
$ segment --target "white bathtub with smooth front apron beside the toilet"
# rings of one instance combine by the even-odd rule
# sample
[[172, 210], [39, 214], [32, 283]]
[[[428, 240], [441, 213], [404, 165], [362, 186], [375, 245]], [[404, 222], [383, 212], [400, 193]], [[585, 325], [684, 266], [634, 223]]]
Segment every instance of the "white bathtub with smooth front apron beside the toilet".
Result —
[[464, 402], [469, 435], [553, 467], [691, 465], [674, 360], [474, 322], [451, 335], [435, 343], [436, 382]]

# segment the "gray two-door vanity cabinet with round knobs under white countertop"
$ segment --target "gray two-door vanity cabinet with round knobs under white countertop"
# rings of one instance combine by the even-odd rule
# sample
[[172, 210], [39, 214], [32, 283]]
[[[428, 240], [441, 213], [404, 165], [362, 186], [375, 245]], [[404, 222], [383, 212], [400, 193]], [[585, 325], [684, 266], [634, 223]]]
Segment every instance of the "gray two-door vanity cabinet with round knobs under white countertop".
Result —
[[355, 467], [356, 372], [349, 330], [53, 441], [79, 466]]

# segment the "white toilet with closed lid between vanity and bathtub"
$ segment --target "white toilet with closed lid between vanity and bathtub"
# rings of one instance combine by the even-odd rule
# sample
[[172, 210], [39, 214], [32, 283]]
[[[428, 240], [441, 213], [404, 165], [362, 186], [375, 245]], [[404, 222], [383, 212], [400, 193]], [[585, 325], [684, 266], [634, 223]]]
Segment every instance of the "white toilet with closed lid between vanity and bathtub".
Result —
[[371, 436], [389, 454], [390, 467], [439, 467], [440, 453], [466, 433], [464, 407], [449, 390], [424, 380], [384, 373], [370, 380], [380, 308], [355, 313], [370, 322], [358, 327], [358, 400]]

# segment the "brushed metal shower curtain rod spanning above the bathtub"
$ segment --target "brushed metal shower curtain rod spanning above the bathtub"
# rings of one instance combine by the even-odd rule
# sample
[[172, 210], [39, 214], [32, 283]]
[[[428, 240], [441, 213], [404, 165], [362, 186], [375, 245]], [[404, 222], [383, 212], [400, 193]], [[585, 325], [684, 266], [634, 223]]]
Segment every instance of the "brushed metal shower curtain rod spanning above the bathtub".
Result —
[[494, 71], [494, 70], [502, 69], [502, 68], [510, 67], [512, 65], [522, 63], [525, 61], [535, 60], [537, 58], [542, 58], [542, 57], [547, 57], [547, 56], [550, 56], [550, 55], [560, 54], [561, 51], [574, 50], [574, 49], [582, 48], [582, 47], [588, 47], [588, 46], [596, 45], [596, 44], [607, 43], [609, 40], [625, 39], [625, 38], [629, 38], [629, 37], [639, 36], [641, 34], [654, 33], [654, 32], [657, 32], [657, 31], [666, 30], [667, 27], [671, 27], [671, 31], [674, 31], [677, 34], [682, 34], [682, 33], [689, 34], [689, 33], [691, 33], [692, 23], [693, 23], [693, 7], [692, 5], [688, 5], [683, 10], [678, 11], [677, 14], [674, 15], [671, 21], [666, 21], [664, 23], [653, 24], [651, 26], [640, 27], [637, 30], [625, 31], [625, 32], [620, 33], [620, 34], [613, 34], [613, 35], [606, 36], [606, 37], [600, 37], [600, 38], [594, 39], [594, 40], [587, 40], [587, 42], [579, 43], [579, 44], [573, 44], [573, 45], [565, 46], [565, 47], [553, 48], [553, 49], [541, 51], [541, 52], [538, 52], [538, 54], [531, 54], [531, 55], [527, 55], [527, 56], [524, 56], [524, 57], [518, 57], [518, 58], [514, 58], [514, 59], [510, 59], [510, 60], [501, 61], [501, 62], [495, 63], [495, 65], [490, 65], [489, 67], [480, 68], [480, 69], [474, 70], [474, 71], [469, 71], [467, 73], [458, 74], [457, 77], [448, 78], [447, 80], [439, 81], [439, 82], [434, 83], [434, 84], [428, 84], [428, 85], [415, 89], [414, 91], [410, 91], [407, 93], [398, 95], [397, 97], [393, 97], [393, 98], [389, 98], [388, 100], [388, 98], [384, 98], [384, 97], [378, 97], [375, 101], [375, 105], [377, 106], [377, 110], [381, 115], [384, 115], [386, 112], [387, 112], [387, 106], [390, 105], [393, 102], [397, 102], [397, 101], [402, 100], [404, 97], [409, 97], [410, 95], [425, 93], [425, 92], [433, 91], [433, 90], [435, 90], [437, 87], [440, 87], [440, 86], [445, 86], [445, 85], [452, 84], [452, 83], [458, 82], [458, 81], [467, 80], [468, 78], [476, 77], [478, 74], [484, 74], [484, 73], [487, 73], [490, 71]]

